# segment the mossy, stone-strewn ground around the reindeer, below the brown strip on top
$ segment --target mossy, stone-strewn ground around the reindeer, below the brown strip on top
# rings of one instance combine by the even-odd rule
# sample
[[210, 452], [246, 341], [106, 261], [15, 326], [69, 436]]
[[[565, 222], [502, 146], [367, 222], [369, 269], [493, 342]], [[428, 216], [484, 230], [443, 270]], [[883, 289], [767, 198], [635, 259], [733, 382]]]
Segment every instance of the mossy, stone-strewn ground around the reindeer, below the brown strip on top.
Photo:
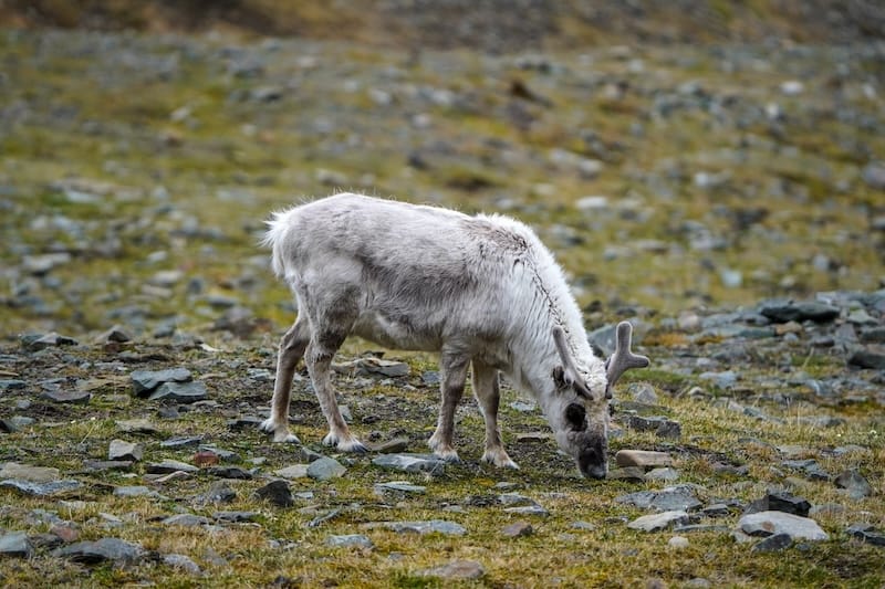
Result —
[[[885, 582], [885, 49], [489, 56], [0, 34], [0, 575], [60, 586]], [[435, 358], [351, 341], [367, 455], [258, 432], [270, 210], [350, 187], [535, 227], [636, 326], [612, 477], [506, 388], [520, 471], [425, 454]], [[388, 361], [384, 361], [388, 360]], [[633, 374], [635, 372], [635, 374]]]

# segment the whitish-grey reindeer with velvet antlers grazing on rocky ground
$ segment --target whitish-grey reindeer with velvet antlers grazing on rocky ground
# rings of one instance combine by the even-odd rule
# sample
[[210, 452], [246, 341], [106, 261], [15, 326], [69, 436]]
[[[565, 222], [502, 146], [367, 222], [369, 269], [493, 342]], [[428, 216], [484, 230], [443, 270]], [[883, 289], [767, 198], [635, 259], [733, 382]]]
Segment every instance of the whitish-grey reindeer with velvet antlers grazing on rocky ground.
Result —
[[440, 353], [442, 402], [428, 441], [438, 456], [458, 460], [455, 409], [472, 365], [485, 461], [518, 467], [498, 431], [500, 370], [534, 396], [581, 473], [606, 475], [612, 387], [648, 359], [631, 353], [628, 323], [618, 325], [617, 350], [606, 362], [593, 354], [562, 271], [528, 227], [351, 193], [275, 213], [268, 224], [273, 271], [292, 287], [299, 312], [280, 343], [272, 410], [261, 424], [275, 442], [298, 442], [289, 397], [303, 356], [329, 422], [323, 443], [366, 450], [330, 382], [332, 357], [353, 334]]

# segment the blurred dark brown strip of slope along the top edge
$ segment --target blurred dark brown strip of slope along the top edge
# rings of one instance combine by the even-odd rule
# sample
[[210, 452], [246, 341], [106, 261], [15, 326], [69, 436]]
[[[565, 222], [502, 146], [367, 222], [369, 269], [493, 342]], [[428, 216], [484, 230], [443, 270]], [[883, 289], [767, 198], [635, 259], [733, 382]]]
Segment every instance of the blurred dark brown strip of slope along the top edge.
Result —
[[376, 46], [562, 50], [885, 36], [875, 0], [0, 0], [0, 27], [235, 30]]

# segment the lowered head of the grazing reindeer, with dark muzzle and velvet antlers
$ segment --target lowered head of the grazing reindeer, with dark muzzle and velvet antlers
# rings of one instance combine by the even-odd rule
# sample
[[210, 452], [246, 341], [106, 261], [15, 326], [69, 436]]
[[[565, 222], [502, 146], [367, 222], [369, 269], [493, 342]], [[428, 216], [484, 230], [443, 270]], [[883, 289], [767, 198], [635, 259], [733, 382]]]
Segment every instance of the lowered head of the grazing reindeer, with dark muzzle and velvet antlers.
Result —
[[648, 358], [631, 351], [632, 336], [633, 327], [620, 323], [615, 353], [603, 367], [596, 359], [587, 362], [595, 369], [585, 369], [572, 357], [563, 330], [553, 328], [562, 366], [553, 369], [554, 402], [548, 417], [560, 448], [574, 457], [584, 476], [604, 478], [608, 472], [608, 400], [615, 382], [628, 369], [648, 366]]

